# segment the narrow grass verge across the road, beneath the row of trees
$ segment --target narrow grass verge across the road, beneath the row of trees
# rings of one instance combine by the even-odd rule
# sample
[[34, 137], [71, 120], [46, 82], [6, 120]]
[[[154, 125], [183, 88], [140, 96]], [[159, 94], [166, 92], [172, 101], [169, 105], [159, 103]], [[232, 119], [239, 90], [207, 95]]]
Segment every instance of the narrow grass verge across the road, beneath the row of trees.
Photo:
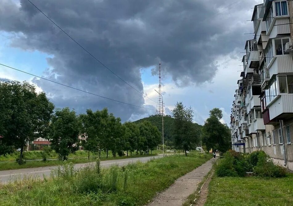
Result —
[[[105, 156], [101, 157], [101, 160], [113, 160], [113, 159], [126, 159], [126, 158], [136, 158], [136, 157], [147, 157], [147, 156], [155, 156], [153, 155], [132, 155], [132, 156], [123, 156], [123, 157], [113, 157], [110, 156], [106, 158]], [[96, 161], [96, 158], [74, 158], [74, 159], [68, 159], [67, 162], [72, 162], [74, 164], [77, 163], [89, 163]], [[14, 161], [6, 161], [6, 162], [0, 162], [0, 171], [2, 170], [15, 170], [15, 169], [23, 169], [23, 168], [31, 168], [31, 167], [47, 167], [47, 166], [56, 166], [56, 165], [62, 165], [64, 164], [63, 161], [59, 160], [47, 160], [46, 162], [43, 161], [27, 161], [26, 164], [19, 165], [18, 163]]]

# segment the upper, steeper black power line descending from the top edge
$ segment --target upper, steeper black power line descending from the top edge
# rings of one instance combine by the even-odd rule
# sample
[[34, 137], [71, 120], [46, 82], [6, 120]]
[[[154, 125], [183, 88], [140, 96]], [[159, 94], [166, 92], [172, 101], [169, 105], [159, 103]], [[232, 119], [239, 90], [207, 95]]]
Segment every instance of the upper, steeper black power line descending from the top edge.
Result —
[[95, 60], [97, 60], [102, 66], [104, 66], [106, 69], [108, 69], [111, 73], [113, 73], [116, 77], [118, 77], [120, 80], [122, 80], [124, 83], [126, 83], [128, 86], [130, 86], [132, 89], [137, 91], [138, 93], [142, 94], [143, 97], [146, 97], [150, 99], [151, 101], [157, 103], [155, 100], [152, 100], [151, 98], [147, 97], [145, 94], [141, 93], [137, 89], [135, 89], [133, 86], [128, 84], [125, 80], [123, 80], [120, 76], [118, 76], [115, 72], [113, 72], [111, 69], [109, 69], [105, 64], [103, 64], [100, 60], [98, 60], [95, 56], [93, 56], [88, 50], [85, 49], [85, 47], [81, 46], [75, 39], [73, 39], [68, 33], [66, 33], [61, 27], [59, 27], [52, 19], [50, 19], [43, 11], [41, 11], [35, 4], [33, 4], [30, 0], [29, 1], [37, 10], [39, 10], [47, 19], [49, 19], [56, 27], [58, 27], [61, 31], [63, 31], [64, 34], [66, 34], [72, 41], [74, 41], [78, 46], [80, 46], [85, 52], [87, 52], [90, 56], [92, 56]]

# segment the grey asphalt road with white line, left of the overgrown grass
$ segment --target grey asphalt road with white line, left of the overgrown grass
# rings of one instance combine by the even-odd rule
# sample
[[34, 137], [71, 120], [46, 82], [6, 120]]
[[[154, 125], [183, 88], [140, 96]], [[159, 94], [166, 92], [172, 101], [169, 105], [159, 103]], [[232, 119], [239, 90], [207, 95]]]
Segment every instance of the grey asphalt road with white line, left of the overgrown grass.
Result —
[[[147, 162], [151, 158], [161, 158], [163, 155], [156, 155], [151, 157], [138, 157], [138, 158], [128, 158], [128, 159], [115, 159], [115, 160], [106, 160], [101, 161], [102, 167], [109, 167], [111, 165], [126, 165], [129, 163], [134, 163], [137, 161], [140, 162]], [[84, 167], [89, 163], [81, 163], [75, 164], [74, 168], [79, 169]], [[49, 167], [35, 167], [35, 168], [26, 168], [26, 169], [18, 169], [18, 170], [4, 170], [0, 171], [0, 181], [2, 183], [7, 183], [9, 181], [13, 181], [15, 179], [23, 179], [24, 177], [43, 177], [43, 176], [50, 176], [52, 170], [56, 169], [58, 166], [49, 166]]]

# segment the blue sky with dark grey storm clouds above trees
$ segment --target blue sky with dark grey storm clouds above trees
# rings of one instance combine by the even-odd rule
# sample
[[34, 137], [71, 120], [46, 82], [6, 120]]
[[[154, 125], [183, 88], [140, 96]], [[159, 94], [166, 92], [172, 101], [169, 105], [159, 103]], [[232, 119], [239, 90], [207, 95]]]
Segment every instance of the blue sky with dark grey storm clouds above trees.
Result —
[[31, 2], [107, 68], [28, 0], [0, 1], [0, 64], [140, 107], [1, 65], [0, 80], [29, 81], [56, 108], [84, 113], [107, 107], [122, 121], [135, 121], [155, 113], [158, 94], [154, 89], [161, 62], [167, 114], [182, 101], [192, 107], [198, 124], [203, 125], [215, 107], [223, 112], [221, 121], [229, 123], [235, 86], [243, 70], [241, 52], [245, 41], [253, 39], [244, 35], [253, 28], [247, 20], [251, 8], [262, 0]]

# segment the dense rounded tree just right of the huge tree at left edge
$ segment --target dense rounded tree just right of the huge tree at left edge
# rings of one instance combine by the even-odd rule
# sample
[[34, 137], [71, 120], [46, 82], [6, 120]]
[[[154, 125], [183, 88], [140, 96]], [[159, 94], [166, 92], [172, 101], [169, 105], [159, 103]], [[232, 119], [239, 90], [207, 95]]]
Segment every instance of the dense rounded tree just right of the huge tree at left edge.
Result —
[[79, 121], [74, 110], [57, 109], [52, 116], [49, 140], [60, 160], [78, 149]]

